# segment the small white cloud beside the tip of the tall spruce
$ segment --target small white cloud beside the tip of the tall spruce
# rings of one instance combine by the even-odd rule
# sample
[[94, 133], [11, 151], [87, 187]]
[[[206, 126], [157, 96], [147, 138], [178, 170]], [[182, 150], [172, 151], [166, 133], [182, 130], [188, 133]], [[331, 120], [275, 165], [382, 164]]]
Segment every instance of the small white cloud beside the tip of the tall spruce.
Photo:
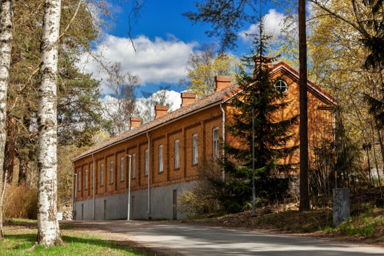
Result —
[[[264, 21], [265, 33], [271, 34], [274, 36], [279, 36], [281, 34], [282, 21], [284, 18], [284, 14], [276, 11], [275, 9], [269, 9], [268, 13], [265, 14], [263, 18], [265, 19]], [[259, 30], [258, 23], [251, 24], [247, 30], [241, 31], [238, 35], [240, 36], [240, 38], [242, 38], [244, 42], [247, 42], [249, 41], [249, 36], [246, 36], [245, 33], [257, 34], [258, 30]]]

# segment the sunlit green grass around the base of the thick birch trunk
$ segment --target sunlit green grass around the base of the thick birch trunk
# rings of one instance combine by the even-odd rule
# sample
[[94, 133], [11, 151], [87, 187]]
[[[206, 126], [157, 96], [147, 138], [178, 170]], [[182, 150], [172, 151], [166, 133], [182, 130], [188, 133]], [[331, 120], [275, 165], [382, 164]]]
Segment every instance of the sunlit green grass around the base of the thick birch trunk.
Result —
[[76, 230], [74, 225], [67, 223], [60, 223], [64, 245], [35, 246], [30, 251], [36, 240], [35, 224], [35, 220], [11, 219], [5, 226], [5, 239], [0, 241], [0, 255], [147, 255], [115, 241], [85, 234], [84, 231]]

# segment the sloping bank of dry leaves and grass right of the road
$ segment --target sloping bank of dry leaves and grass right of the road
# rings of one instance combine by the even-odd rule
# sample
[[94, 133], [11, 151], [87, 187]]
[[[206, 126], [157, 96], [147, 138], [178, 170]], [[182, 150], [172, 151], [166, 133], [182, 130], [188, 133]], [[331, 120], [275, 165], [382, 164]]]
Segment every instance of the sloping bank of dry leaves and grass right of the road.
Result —
[[[276, 204], [251, 211], [227, 214], [205, 213], [179, 220], [182, 223], [310, 235], [332, 240], [364, 242], [384, 246], [384, 207], [376, 206], [377, 189], [351, 195], [351, 216], [333, 227], [332, 208], [327, 205], [298, 211], [298, 203]], [[330, 204], [330, 202], [329, 202]]]

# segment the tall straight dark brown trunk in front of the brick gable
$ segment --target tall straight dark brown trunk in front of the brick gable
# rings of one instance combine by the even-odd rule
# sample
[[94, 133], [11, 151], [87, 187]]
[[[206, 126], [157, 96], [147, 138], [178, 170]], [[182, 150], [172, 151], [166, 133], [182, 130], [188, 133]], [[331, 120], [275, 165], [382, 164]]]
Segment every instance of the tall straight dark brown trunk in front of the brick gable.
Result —
[[299, 104], [300, 104], [300, 206], [299, 210], [309, 209], [308, 187], [308, 107], [306, 85], [306, 26], [305, 0], [298, 0], [298, 57], [299, 57]]

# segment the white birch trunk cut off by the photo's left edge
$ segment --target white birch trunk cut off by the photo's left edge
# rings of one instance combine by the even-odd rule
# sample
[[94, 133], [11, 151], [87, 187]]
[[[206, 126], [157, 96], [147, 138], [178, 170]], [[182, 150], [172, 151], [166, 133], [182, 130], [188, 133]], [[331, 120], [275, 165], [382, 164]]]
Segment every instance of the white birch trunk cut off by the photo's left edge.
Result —
[[[6, 89], [13, 39], [13, 9], [13, 0], [0, 0], [0, 191], [4, 183], [2, 178], [6, 140]], [[0, 200], [0, 211], [2, 211], [2, 200]], [[2, 214], [0, 214], [0, 239], [3, 239]]]

